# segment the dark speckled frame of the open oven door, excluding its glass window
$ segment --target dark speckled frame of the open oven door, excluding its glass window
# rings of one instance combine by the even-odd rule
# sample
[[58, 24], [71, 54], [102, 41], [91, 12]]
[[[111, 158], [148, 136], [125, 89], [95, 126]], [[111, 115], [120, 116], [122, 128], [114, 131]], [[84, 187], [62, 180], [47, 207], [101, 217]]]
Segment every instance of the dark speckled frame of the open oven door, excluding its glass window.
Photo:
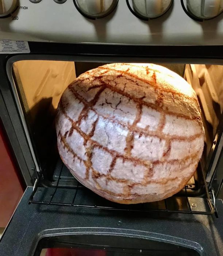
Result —
[[[36, 256], [41, 241], [89, 234], [135, 237], [193, 249], [201, 256], [220, 256], [222, 216], [126, 214], [106, 210], [28, 204], [28, 187], [0, 241], [0, 255]], [[222, 200], [216, 207], [223, 212]], [[84, 240], [82, 243], [86, 244]], [[57, 246], [58, 247], [58, 246]], [[142, 248], [139, 248], [142, 249]]]

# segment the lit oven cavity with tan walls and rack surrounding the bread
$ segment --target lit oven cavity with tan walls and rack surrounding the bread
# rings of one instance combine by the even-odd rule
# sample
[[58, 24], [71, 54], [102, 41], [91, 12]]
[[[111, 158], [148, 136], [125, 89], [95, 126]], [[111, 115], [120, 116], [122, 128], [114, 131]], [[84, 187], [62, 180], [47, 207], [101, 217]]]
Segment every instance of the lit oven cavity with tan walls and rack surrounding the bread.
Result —
[[176, 195], [159, 202], [125, 206], [109, 202], [80, 184], [62, 163], [57, 151], [54, 122], [61, 94], [77, 76], [103, 64], [20, 60], [12, 65], [12, 90], [18, 98], [24, 132], [39, 173], [29, 203], [102, 210], [212, 214], [214, 199], [205, 180], [210, 173], [213, 143], [216, 144], [216, 131], [222, 120], [223, 66], [159, 63], [186, 79], [196, 91], [205, 129], [203, 156], [194, 176]]

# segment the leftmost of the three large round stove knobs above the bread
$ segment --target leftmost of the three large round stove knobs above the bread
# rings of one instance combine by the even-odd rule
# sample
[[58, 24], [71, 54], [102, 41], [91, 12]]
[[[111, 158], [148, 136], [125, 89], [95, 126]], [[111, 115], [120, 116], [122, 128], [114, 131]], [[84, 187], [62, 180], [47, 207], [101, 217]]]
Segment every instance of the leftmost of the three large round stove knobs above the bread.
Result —
[[79, 12], [88, 18], [102, 18], [110, 14], [118, 0], [74, 0]]

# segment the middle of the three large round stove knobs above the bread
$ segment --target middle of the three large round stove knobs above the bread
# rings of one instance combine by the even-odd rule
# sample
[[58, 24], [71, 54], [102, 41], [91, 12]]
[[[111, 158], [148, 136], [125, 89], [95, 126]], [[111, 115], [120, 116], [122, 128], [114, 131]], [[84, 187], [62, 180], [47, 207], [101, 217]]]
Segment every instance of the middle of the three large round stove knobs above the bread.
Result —
[[172, 3], [173, 0], [132, 0], [135, 13], [147, 19], [163, 15]]

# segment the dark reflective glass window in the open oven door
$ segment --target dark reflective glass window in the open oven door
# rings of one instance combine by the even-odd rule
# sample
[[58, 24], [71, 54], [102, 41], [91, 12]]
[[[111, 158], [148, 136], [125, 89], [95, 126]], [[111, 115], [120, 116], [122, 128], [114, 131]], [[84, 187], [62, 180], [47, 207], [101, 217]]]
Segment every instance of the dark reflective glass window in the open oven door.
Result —
[[[48, 248], [48, 246], [50, 248]], [[46, 247], [46, 248], [43, 248]], [[143, 238], [74, 235], [43, 238], [35, 256], [199, 256], [194, 249]]]

